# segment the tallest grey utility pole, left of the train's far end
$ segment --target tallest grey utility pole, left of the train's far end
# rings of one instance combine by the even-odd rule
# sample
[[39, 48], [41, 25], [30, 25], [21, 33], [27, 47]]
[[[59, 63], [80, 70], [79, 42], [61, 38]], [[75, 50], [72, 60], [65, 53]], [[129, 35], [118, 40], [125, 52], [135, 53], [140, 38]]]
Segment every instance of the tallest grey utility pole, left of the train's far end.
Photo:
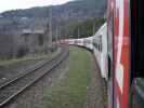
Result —
[[49, 49], [52, 48], [52, 8], [49, 9]]

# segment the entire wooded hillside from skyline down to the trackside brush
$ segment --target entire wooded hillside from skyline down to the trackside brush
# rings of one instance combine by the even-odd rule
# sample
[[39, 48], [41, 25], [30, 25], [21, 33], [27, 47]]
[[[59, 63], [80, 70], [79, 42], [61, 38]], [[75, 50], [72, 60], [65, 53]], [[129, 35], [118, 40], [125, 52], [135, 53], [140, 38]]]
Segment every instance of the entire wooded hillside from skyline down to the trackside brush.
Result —
[[106, 0], [75, 0], [62, 5], [12, 10], [1, 13], [0, 58], [15, 58], [47, 52], [50, 9], [54, 40], [57, 33], [61, 38], [92, 36], [93, 26], [94, 32], [96, 32], [105, 22], [103, 17], [106, 13]]

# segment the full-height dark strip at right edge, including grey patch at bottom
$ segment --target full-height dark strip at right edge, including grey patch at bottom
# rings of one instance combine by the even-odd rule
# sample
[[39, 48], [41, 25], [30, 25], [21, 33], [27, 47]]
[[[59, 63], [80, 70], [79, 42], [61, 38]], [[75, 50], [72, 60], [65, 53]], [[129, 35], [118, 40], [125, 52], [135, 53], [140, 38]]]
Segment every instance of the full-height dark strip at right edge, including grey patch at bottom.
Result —
[[131, 108], [144, 108], [144, 1], [131, 1]]

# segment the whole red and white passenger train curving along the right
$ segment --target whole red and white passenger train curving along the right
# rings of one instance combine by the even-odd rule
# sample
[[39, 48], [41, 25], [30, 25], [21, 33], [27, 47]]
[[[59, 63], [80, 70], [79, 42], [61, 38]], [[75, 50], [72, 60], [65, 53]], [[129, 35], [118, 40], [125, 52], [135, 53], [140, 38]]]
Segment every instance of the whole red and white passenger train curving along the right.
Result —
[[108, 0], [99, 31], [65, 43], [93, 51], [107, 82], [108, 108], [144, 108], [144, 2]]

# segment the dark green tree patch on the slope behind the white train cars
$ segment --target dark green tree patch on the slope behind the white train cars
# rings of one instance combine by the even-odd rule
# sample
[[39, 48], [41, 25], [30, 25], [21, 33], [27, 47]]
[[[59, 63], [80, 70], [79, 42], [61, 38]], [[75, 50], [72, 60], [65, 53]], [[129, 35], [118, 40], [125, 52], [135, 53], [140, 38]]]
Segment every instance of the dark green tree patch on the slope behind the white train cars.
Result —
[[93, 36], [94, 32], [106, 22], [105, 18], [92, 18], [82, 23], [73, 23], [62, 29], [62, 36], [70, 36], [70, 38], [87, 38]]

